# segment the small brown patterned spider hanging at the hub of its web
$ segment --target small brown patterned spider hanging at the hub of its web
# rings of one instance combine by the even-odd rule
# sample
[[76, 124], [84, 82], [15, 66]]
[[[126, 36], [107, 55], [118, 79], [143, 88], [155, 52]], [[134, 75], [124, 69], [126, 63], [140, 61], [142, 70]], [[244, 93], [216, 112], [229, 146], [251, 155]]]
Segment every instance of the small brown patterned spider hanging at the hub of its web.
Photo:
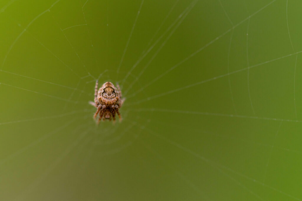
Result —
[[121, 99], [120, 86], [117, 84], [117, 88], [111, 83], [106, 82], [102, 85], [102, 87], [98, 90], [98, 80], [95, 83], [95, 99], [94, 102], [89, 101], [89, 103], [96, 108], [98, 108], [95, 112], [94, 118], [97, 117], [98, 113], [100, 113], [100, 117], [98, 119], [98, 123], [100, 123], [102, 117], [103, 120], [109, 119], [111, 121], [111, 116], [113, 121], [115, 122], [115, 112], [120, 118], [119, 108], [122, 106], [124, 99]]

